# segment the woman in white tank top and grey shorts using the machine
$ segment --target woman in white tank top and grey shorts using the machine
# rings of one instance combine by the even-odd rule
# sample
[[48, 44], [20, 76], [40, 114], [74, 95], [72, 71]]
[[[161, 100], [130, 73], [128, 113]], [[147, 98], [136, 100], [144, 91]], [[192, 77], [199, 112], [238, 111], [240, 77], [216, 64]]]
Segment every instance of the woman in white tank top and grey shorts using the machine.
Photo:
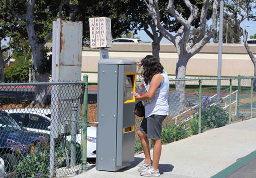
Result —
[[[142, 59], [139, 67], [143, 68], [142, 76], [149, 90], [143, 96], [136, 93], [136, 99], [141, 101], [153, 98], [153, 103], [145, 106], [145, 117], [138, 131], [145, 155], [145, 161], [138, 171], [142, 176], [160, 176], [158, 164], [162, 148], [162, 122], [169, 111], [169, 79], [161, 63], [151, 55]], [[151, 139], [154, 144], [152, 162], [148, 139]]]

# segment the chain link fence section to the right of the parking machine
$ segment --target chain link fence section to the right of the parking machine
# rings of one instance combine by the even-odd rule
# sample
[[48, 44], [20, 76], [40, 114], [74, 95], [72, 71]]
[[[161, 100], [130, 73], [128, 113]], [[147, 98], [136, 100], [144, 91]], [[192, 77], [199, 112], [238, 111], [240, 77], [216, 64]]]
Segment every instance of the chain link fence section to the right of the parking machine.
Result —
[[[169, 115], [163, 122], [162, 144], [256, 117], [255, 77], [169, 79]], [[142, 118], [136, 117], [135, 131]], [[151, 145], [153, 146], [153, 145]], [[135, 136], [135, 152], [142, 151]]]

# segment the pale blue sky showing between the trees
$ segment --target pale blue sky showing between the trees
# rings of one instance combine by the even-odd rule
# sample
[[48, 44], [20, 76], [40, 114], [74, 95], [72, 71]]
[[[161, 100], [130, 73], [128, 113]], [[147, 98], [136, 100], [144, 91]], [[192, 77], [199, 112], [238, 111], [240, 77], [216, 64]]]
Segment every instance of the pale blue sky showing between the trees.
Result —
[[[210, 27], [210, 22], [208, 24]], [[256, 33], [256, 22], [253, 21], [247, 21], [244, 20], [244, 22], [241, 23], [242, 28], [245, 28], [248, 31], [248, 39], [250, 38], [250, 35], [253, 35]], [[151, 38], [146, 34], [144, 30], [141, 30], [138, 32], [138, 34], [135, 34], [135, 37], [140, 37], [140, 39], [144, 42], [152, 42]], [[242, 43], [242, 38], [241, 38], [241, 43]], [[169, 40], [163, 38], [161, 40], [161, 43], [170, 43]]]

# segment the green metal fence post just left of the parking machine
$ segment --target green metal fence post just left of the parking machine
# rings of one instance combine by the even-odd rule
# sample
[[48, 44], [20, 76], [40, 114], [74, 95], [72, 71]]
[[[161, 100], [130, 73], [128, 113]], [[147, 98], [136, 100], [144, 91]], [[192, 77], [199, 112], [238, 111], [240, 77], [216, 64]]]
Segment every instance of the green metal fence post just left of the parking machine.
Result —
[[87, 103], [88, 103], [88, 75], [83, 75], [83, 112], [82, 112], [82, 170], [87, 166]]

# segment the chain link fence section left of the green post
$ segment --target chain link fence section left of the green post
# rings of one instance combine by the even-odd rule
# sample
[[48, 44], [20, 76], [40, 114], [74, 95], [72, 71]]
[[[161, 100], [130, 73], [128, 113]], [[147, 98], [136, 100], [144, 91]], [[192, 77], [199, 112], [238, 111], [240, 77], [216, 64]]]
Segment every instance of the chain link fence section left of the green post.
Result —
[[83, 82], [0, 83], [0, 177], [82, 170], [83, 93]]

